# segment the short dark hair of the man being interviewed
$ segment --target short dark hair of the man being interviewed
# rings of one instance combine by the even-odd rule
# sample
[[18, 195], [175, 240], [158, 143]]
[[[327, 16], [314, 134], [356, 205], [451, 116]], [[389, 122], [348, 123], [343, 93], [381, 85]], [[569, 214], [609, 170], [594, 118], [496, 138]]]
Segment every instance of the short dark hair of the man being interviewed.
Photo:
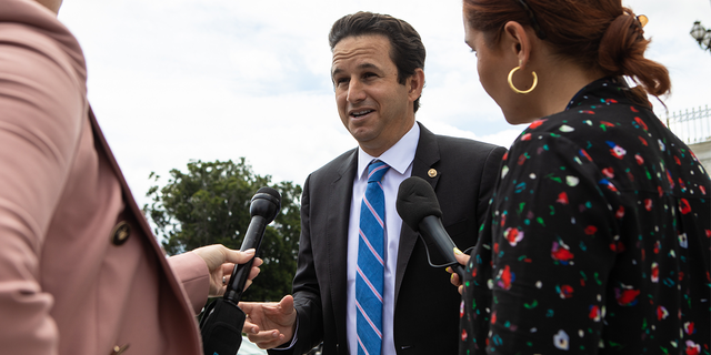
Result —
[[[333, 23], [329, 33], [331, 51], [348, 37], [381, 34], [390, 40], [390, 59], [398, 68], [398, 82], [405, 83], [414, 70], [424, 68], [424, 44], [410, 23], [389, 14], [360, 11], [347, 14]], [[414, 112], [420, 108], [420, 98], [414, 101]]]

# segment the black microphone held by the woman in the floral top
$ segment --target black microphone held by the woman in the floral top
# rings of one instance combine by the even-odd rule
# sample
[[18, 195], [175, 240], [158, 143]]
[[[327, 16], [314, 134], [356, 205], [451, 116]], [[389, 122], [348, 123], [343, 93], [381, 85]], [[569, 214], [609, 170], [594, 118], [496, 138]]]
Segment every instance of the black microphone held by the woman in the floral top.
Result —
[[432, 186], [422, 178], [405, 179], [398, 189], [395, 209], [402, 221], [420, 233], [430, 265], [435, 266], [430, 255], [439, 255], [444, 263], [437, 266], [451, 266], [459, 280], [463, 280], [464, 268], [454, 257], [457, 244], [442, 225], [442, 210]]

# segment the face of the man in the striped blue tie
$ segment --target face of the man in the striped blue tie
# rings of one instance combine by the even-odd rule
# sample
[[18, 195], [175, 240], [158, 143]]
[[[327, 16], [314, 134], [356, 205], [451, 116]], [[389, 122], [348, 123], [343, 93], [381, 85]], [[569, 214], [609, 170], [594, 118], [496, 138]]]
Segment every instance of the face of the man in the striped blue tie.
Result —
[[418, 69], [404, 85], [398, 83], [387, 37], [347, 37], [338, 42], [331, 79], [341, 121], [368, 154], [380, 156], [414, 124], [413, 102], [424, 75]]

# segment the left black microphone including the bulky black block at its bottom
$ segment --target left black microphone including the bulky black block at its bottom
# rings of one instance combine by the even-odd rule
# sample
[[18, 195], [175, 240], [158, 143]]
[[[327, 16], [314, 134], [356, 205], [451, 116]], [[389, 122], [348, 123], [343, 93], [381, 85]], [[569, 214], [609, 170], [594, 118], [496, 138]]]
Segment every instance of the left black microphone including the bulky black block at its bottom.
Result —
[[[277, 190], [261, 187], [257, 191], [249, 206], [252, 220], [247, 227], [240, 251], [254, 248], [254, 255], [259, 253], [267, 224], [277, 217], [280, 209], [281, 195]], [[240, 349], [242, 327], [247, 315], [240, 310], [238, 303], [242, 297], [242, 291], [253, 263], [254, 258], [251, 258], [244, 264], [234, 265], [224, 296], [206, 307], [202, 320], [200, 320], [200, 335], [202, 336], [204, 355], [234, 355]]]

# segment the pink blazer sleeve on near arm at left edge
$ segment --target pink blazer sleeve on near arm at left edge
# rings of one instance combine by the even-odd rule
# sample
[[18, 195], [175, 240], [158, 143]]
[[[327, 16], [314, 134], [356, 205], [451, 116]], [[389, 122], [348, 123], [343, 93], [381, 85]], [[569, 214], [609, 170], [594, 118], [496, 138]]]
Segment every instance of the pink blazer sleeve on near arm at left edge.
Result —
[[54, 354], [59, 342], [40, 257], [88, 126], [83, 78], [64, 51], [30, 26], [0, 27], [0, 344], [8, 354]]

